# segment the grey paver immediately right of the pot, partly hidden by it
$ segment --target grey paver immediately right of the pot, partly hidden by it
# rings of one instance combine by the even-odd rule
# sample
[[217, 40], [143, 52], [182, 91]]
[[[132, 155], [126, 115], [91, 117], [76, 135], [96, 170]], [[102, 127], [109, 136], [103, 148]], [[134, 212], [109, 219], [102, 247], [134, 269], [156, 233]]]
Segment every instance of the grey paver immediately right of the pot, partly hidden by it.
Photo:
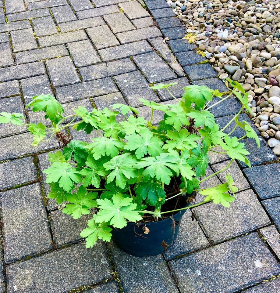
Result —
[[209, 246], [209, 242], [204, 236], [196, 220], [192, 220], [192, 213], [187, 210], [183, 215], [180, 230], [177, 238], [171, 247], [164, 252], [166, 259], [174, 259], [178, 255], [193, 252]]

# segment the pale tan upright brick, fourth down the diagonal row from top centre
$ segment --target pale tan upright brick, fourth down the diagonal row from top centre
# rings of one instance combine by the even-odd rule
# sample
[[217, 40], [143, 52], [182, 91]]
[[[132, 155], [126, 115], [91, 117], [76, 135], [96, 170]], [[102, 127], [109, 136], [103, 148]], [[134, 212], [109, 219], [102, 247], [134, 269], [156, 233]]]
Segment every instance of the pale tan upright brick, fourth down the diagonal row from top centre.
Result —
[[90, 40], [67, 44], [76, 67], [100, 63], [101, 59]]

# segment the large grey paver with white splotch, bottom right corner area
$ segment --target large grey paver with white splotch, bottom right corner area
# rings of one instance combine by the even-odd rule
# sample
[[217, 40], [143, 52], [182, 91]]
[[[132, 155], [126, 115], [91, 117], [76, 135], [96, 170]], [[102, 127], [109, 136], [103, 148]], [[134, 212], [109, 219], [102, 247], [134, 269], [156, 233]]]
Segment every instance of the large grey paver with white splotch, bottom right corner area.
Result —
[[170, 266], [182, 293], [232, 293], [277, 275], [280, 269], [257, 233], [176, 259]]

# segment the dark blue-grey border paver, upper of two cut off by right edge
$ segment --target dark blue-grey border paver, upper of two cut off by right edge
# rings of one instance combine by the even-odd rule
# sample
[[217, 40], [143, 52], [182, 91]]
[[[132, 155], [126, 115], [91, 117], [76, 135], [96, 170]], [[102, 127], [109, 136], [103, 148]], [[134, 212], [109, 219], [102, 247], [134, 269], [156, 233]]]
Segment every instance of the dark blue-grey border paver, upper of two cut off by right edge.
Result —
[[[247, 179], [261, 199], [280, 196], [280, 163], [254, 166], [244, 169]], [[261, 175], [261, 180], [260, 176]]]

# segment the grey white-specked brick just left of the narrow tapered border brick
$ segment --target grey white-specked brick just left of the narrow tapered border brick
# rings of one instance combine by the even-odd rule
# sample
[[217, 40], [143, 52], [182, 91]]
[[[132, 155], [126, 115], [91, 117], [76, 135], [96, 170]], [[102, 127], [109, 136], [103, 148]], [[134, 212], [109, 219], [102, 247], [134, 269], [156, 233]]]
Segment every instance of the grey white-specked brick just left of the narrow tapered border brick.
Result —
[[175, 73], [156, 52], [133, 56], [133, 60], [151, 83], [176, 77]]

